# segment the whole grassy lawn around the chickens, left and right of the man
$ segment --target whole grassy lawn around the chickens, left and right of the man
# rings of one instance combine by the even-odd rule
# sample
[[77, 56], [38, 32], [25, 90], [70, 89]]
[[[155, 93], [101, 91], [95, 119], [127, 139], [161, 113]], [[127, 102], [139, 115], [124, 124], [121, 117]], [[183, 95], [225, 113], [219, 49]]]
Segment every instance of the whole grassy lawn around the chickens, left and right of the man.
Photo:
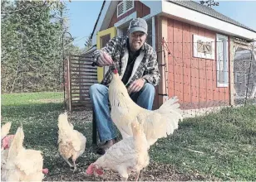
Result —
[[[78, 170], [73, 173], [58, 155], [57, 117], [63, 111], [62, 93], [2, 94], [2, 123], [12, 122], [11, 133], [22, 123], [24, 146], [42, 151], [50, 171], [44, 180], [102, 180], [85, 173], [99, 157], [91, 146], [91, 111], [69, 113], [87, 137]], [[256, 180], [255, 151], [256, 107], [224, 108], [185, 119], [174, 135], [160, 139], [150, 148], [150, 165], [140, 180]], [[120, 178], [107, 172], [103, 180]]]

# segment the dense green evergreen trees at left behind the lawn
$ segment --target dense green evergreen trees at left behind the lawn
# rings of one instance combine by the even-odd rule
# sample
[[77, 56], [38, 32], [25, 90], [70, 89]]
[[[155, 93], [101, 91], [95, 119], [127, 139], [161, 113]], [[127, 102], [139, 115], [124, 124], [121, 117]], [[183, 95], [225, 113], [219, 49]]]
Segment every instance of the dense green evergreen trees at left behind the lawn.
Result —
[[9, 12], [2, 14], [2, 92], [58, 89], [62, 27], [52, 21], [52, 7], [39, 1], [2, 5]]

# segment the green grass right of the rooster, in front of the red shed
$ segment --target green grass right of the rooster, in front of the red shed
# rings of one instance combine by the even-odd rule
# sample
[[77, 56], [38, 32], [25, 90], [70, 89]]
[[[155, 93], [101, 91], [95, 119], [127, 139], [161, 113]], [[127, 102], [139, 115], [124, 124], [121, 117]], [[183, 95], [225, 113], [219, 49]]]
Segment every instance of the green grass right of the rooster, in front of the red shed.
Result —
[[256, 108], [225, 108], [186, 119], [150, 152], [154, 160], [182, 172], [199, 171], [222, 180], [256, 180]]

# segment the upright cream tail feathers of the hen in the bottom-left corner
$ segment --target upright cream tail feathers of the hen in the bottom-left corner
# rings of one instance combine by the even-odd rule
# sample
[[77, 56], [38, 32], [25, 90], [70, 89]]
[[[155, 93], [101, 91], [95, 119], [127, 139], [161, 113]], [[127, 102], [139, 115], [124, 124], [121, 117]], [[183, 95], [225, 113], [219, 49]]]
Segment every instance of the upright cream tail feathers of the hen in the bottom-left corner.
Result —
[[17, 128], [17, 132], [13, 138], [12, 144], [8, 151], [8, 159], [13, 159], [13, 157], [17, 156], [17, 153], [22, 150], [24, 141], [24, 132], [22, 127]]

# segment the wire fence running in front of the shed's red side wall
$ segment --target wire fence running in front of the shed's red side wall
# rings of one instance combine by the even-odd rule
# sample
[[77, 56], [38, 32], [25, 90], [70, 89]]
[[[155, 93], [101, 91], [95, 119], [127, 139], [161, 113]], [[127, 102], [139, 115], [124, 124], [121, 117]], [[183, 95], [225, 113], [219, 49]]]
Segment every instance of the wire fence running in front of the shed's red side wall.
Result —
[[225, 40], [163, 39], [157, 52], [163, 60], [160, 70], [164, 77], [163, 93], [159, 95], [178, 96], [188, 117], [227, 106], [255, 104], [254, 45]]

